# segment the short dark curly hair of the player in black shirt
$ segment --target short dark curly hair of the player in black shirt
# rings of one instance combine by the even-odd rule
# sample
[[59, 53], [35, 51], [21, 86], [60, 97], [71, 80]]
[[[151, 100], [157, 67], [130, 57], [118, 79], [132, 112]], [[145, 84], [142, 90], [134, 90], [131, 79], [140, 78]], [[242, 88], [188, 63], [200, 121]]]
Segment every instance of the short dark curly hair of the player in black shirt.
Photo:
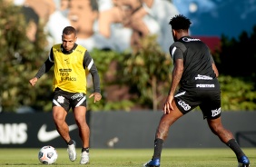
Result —
[[169, 25], [171, 25], [174, 30], [188, 30], [191, 24], [190, 19], [184, 15], [175, 15], [169, 22]]

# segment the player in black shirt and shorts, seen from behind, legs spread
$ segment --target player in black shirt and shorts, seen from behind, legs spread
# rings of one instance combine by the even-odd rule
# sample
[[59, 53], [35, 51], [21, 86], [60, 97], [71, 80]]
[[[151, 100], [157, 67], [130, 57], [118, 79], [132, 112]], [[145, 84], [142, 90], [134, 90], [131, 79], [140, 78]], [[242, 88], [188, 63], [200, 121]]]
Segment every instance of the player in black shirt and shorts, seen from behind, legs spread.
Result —
[[[174, 64], [172, 83], [155, 134], [153, 158], [143, 166], [160, 166], [162, 143], [167, 138], [170, 126], [184, 114], [199, 106], [212, 133], [235, 152], [238, 166], [248, 167], [250, 165], [248, 157], [241, 151], [232, 133], [222, 126], [218, 70], [208, 46], [200, 39], [189, 36], [191, 22], [185, 16], [175, 15], [169, 24], [172, 26], [174, 39], [174, 43], [170, 46]], [[180, 88], [175, 93], [178, 84]]]

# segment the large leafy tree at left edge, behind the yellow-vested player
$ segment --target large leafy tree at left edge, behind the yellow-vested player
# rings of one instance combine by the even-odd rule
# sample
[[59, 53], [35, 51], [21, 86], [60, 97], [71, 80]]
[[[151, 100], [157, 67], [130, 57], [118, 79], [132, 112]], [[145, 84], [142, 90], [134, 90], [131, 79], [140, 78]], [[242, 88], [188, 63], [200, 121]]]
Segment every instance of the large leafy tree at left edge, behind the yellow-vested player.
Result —
[[36, 40], [30, 41], [26, 36], [27, 22], [22, 9], [9, 1], [0, 0], [0, 3], [0, 106], [4, 111], [15, 111], [22, 105], [36, 106], [34, 101], [40, 94], [36, 93], [42, 87], [30, 91], [28, 79], [34, 75], [46, 55], [44, 26], [38, 26]]

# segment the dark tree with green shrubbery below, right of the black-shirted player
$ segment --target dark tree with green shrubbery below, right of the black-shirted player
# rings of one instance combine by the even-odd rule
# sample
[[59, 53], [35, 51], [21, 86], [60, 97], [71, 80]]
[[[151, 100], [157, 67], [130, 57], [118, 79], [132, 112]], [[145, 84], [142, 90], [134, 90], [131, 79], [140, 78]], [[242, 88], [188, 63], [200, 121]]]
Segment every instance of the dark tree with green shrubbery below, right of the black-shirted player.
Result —
[[239, 39], [222, 35], [222, 47], [213, 57], [220, 71], [222, 110], [256, 110], [256, 26], [252, 34], [242, 32]]

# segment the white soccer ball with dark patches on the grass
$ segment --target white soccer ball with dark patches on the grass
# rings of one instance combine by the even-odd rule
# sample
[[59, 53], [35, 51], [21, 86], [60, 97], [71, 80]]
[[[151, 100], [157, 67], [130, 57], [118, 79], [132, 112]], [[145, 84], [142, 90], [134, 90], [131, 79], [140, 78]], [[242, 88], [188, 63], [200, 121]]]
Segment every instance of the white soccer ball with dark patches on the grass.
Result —
[[46, 145], [38, 153], [38, 159], [43, 164], [53, 164], [58, 158], [58, 153], [53, 146]]

